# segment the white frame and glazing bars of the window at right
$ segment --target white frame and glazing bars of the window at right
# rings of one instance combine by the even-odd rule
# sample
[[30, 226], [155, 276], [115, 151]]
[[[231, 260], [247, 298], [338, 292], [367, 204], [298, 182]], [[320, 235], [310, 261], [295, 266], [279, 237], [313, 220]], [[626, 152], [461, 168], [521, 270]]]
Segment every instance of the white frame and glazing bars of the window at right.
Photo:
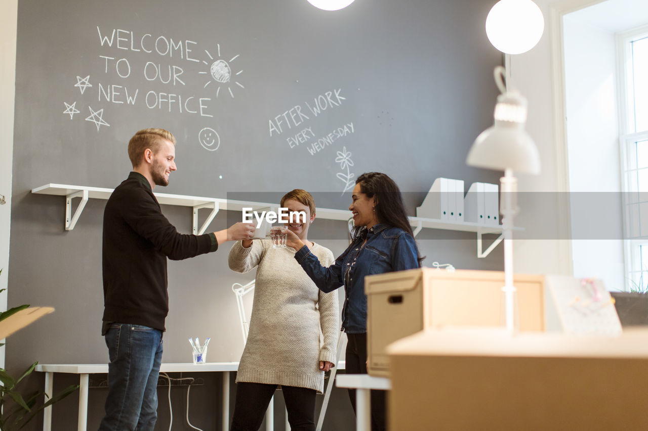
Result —
[[[631, 67], [631, 42], [648, 37], [648, 25], [634, 28], [626, 32], [616, 34], [617, 45], [617, 69], [618, 69], [618, 112], [619, 112], [619, 151], [621, 160], [621, 194], [622, 194], [622, 214], [623, 214], [623, 244], [624, 244], [624, 265], [625, 265], [625, 285], [628, 291], [634, 290], [632, 280], [640, 276], [643, 271], [643, 286], [648, 284], [648, 272], [641, 267], [641, 253], [648, 252], [648, 236], [638, 236], [636, 225], [633, 221], [640, 223], [640, 204], [646, 201], [648, 193], [643, 193], [640, 199], [634, 201], [631, 197], [630, 179], [633, 171], [636, 169], [629, 168], [630, 149], [636, 142], [648, 140], [648, 130], [634, 132], [634, 115], [632, 105], [634, 105], [634, 94], [631, 92], [632, 86], [632, 69]], [[634, 90], [632, 90], [634, 91]], [[648, 184], [642, 186], [639, 190], [648, 192]], [[636, 212], [634, 211], [636, 208]], [[634, 214], [633, 214], [634, 213]], [[634, 225], [634, 226], [633, 226]]]

